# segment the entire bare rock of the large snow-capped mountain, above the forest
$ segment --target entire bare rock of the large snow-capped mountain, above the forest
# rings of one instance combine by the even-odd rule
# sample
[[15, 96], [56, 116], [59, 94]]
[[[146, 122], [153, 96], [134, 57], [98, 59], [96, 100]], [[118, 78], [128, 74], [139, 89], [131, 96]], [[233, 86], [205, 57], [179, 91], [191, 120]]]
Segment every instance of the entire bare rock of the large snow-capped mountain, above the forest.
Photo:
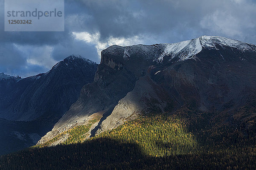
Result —
[[113, 45], [102, 51], [94, 82], [83, 87], [78, 101], [38, 144], [103, 110], [91, 136], [140, 113], [172, 112], [184, 105], [209, 112], [239, 108], [256, 96], [255, 70], [256, 45], [225, 37]]

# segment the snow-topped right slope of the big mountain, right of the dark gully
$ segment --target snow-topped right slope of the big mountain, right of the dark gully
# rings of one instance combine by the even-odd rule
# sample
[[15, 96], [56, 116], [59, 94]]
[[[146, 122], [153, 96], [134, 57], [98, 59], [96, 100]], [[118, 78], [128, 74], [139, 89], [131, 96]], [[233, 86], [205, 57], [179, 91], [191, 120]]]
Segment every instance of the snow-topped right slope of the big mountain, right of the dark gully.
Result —
[[229, 111], [256, 96], [256, 82], [251, 81], [256, 78], [255, 45], [207, 36], [180, 42], [185, 44], [180, 48], [177, 44], [166, 45], [168, 53], [157, 58], [160, 65], [153, 63], [154, 68], [148, 68], [149, 74], [140, 77], [128, 93], [134, 98], [121, 99], [100, 131], [122, 124], [134, 113], [164, 113], [183, 105], [207, 112]]

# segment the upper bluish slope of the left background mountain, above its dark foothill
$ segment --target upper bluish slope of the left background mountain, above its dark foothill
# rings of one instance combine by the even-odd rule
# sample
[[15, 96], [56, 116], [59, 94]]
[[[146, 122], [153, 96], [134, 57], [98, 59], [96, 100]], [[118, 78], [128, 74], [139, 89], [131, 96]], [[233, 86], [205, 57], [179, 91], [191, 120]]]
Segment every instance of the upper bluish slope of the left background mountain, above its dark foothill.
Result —
[[12, 95], [8, 95], [8, 102], [1, 95], [4, 106], [0, 118], [31, 121], [45, 113], [61, 116], [79, 97], [81, 87], [91, 82], [96, 66], [89, 60], [70, 56], [45, 74], [9, 83], [6, 91]]

